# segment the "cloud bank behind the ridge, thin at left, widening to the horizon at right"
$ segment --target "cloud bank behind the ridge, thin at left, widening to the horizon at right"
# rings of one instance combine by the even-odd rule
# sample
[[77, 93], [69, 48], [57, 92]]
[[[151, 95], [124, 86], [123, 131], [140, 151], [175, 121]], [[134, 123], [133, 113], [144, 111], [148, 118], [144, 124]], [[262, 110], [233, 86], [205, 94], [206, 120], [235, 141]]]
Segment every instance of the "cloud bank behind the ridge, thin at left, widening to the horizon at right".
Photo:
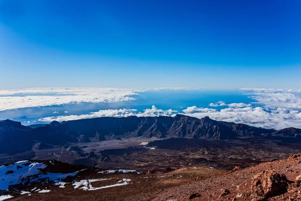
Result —
[[[253, 103], [225, 103], [220, 100], [209, 104], [208, 108], [191, 106], [183, 111], [161, 110], [153, 106], [143, 112], [137, 110], [100, 110], [86, 115], [70, 115], [47, 117], [41, 122], [67, 121], [95, 117], [128, 117], [128, 116], [172, 116], [184, 114], [191, 117], [203, 118], [209, 116], [217, 121], [243, 123], [256, 127], [283, 129], [287, 127], [301, 128], [301, 90], [292, 89], [241, 89], [248, 94]], [[216, 107], [225, 107], [217, 110]]]

